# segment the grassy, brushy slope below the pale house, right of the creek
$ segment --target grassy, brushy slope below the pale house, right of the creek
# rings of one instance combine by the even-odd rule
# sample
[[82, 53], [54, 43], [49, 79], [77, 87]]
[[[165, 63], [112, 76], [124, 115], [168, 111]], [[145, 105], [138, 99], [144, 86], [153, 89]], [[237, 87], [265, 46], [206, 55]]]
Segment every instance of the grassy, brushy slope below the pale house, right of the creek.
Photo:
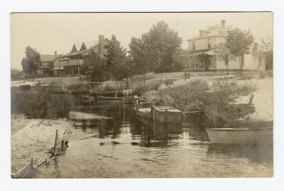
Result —
[[250, 83], [192, 78], [168, 86], [164, 83], [158, 88], [152, 87], [153, 83], [149, 83], [144, 87], [149, 90], [141, 93], [146, 100], [182, 111], [204, 108], [205, 122], [210, 127], [236, 126], [239, 120], [244, 120], [255, 111], [253, 105], [235, 103], [239, 96], [248, 96], [256, 91], [256, 86]]

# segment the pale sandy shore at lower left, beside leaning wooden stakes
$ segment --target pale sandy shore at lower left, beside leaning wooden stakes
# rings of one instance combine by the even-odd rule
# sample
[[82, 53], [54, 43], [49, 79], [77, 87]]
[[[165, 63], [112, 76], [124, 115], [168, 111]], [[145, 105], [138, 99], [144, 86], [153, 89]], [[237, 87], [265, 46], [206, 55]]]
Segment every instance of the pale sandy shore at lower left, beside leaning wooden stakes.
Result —
[[72, 139], [72, 129], [67, 120], [30, 120], [23, 115], [11, 119], [11, 171], [16, 173], [31, 161], [32, 157], [48, 156], [54, 146], [55, 132], [67, 140]]

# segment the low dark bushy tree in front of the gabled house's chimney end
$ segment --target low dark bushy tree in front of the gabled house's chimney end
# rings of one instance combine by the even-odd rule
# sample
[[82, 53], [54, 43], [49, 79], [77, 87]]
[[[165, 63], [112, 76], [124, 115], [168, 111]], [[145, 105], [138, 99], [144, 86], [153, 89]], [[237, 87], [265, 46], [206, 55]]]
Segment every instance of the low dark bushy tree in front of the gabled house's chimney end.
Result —
[[91, 81], [105, 81], [109, 77], [104, 60], [93, 49], [84, 59], [84, 64], [80, 66], [80, 74], [89, 76]]

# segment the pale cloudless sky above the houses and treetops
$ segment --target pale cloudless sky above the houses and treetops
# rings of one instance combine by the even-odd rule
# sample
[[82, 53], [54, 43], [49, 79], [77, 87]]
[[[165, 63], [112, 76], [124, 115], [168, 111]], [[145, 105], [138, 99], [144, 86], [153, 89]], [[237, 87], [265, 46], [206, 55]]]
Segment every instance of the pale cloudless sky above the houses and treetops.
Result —
[[[273, 13], [12, 13], [11, 68], [21, 69], [25, 47], [41, 54], [66, 54], [73, 44], [98, 40], [99, 35], [116, 39], [128, 48], [131, 37], [140, 37], [158, 21], [165, 21], [187, 39], [202, 28], [226, 21], [242, 30], [251, 30], [256, 41], [273, 35]], [[80, 47], [77, 47], [80, 49]]]

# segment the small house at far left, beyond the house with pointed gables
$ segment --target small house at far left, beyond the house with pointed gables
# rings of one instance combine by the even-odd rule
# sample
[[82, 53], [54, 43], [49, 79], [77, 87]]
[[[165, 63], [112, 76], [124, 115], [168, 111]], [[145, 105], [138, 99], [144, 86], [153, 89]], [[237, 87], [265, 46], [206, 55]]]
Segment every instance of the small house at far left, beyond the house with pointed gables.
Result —
[[52, 75], [51, 69], [53, 69], [53, 62], [59, 57], [55, 51], [54, 54], [40, 54], [38, 63], [38, 76], [50, 76]]

